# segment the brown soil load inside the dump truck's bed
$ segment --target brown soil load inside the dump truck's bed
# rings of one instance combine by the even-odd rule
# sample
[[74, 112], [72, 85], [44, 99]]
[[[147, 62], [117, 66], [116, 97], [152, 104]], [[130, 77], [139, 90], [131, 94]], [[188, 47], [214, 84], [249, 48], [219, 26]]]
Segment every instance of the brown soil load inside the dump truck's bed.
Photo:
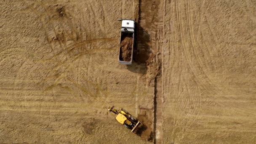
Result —
[[132, 33], [124, 33], [122, 35], [122, 42], [120, 44], [120, 60], [131, 61], [131, 52], [133, 48]]

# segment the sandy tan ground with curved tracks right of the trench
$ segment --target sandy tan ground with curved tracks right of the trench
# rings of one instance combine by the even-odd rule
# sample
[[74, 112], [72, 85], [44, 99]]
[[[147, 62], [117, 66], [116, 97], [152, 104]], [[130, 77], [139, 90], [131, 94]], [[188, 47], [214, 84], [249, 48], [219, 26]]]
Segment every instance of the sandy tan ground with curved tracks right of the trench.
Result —
[[165, 0], [163, 141], [256, 143], [256, 3]]

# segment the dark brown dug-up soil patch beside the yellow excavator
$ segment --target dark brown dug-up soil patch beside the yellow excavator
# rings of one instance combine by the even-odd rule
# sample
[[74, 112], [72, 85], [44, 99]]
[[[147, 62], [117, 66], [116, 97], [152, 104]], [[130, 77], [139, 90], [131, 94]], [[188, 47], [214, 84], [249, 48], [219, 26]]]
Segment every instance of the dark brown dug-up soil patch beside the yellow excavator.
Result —
[[150, 127], [152, 122], [149, 121], [148, 117], [145, 115], [139, 115], [138, 119], [143, 125], [137, 129], [136, 134], [144, 141], [153, 141], [154, 134], [152, 132], [152, 128]]

